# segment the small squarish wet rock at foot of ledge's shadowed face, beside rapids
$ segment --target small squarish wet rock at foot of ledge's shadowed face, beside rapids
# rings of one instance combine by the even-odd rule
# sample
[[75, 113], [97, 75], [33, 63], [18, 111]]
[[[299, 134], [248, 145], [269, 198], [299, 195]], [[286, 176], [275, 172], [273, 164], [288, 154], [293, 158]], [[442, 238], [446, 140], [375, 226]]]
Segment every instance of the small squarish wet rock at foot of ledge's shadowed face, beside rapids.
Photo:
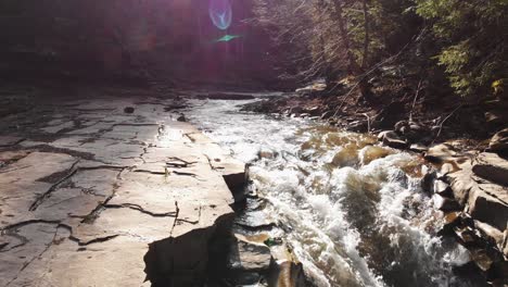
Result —
[[228, 269], [241, 273], [268, 271], [271, 262], [270, 248], [264, 244], [249, 241], [242, 235], [234, 235], [237, 242], [231, 245]]

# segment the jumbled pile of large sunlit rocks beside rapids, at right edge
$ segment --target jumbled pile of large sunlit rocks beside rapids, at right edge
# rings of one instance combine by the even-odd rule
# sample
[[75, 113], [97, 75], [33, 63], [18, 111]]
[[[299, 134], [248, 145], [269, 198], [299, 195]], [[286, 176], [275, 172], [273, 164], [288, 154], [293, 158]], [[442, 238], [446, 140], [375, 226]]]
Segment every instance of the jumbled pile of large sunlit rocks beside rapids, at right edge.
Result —
[[506, 279], [508, 161], [490, 152], [460, 152], [446, 144], [429, 149], [426, 158], [441, 170], [433, 191], [437, 208], [449, 212], [445, 229], [470, 249], [487, 279]]

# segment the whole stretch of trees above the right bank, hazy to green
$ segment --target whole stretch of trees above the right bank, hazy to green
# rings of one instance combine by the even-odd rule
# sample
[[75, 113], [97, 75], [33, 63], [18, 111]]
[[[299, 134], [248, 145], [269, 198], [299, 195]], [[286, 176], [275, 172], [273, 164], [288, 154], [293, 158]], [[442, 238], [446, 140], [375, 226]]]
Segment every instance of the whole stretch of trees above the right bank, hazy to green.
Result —
[[256, 0], [255, 13], [287, 78], [350, 76], [367, 100], [371, 74], [395, 63], [463, 97], [508, 77], [506, 0]]

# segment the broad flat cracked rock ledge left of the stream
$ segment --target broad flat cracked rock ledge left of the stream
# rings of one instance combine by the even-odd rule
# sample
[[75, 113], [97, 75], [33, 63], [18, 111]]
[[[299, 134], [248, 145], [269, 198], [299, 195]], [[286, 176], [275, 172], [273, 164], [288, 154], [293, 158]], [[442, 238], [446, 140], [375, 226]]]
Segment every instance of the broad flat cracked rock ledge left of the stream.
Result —
[[201, 286], [245, 166], [172, 105], [59, 100], [2, 117], [0, 286]]

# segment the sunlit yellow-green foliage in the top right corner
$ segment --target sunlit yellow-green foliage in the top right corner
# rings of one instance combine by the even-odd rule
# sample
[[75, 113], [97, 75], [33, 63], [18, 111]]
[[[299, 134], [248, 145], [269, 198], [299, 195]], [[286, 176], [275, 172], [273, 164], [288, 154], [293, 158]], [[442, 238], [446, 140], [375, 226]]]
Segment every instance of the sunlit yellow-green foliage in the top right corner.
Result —
[[417, 13], [430, 21], [436, 55], [460, 96], [486, 93], [506, 77], [508, 57], [507, 0], [416, 0]]

